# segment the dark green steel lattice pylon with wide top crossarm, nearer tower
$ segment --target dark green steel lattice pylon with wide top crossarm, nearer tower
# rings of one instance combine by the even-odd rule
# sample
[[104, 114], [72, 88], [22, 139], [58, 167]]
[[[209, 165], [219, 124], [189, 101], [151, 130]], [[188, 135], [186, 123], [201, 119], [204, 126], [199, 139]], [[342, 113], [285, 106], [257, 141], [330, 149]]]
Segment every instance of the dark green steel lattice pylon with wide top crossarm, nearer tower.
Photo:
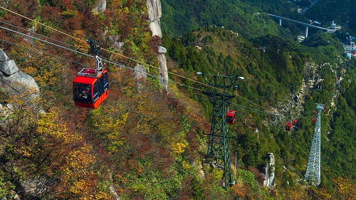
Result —
[[206, 153], [204, 163], [211, 167], [224, 169], [224, 187], [227, 184], [234, 184], [231, 174], [231, 160], [229, 149], [229, 135], [226, 127], [226, 112], [228, 100], [235, 98], [236, 95], [229, 94], [226, 90], [235, 86], [238, 78], [226, 75], [204, 75], [206, 80], [206, 91], [203, 93], [208, 96], [209, 101], [213, 105], [213, 113], [211, 118], [211, 128], [209, 134], [209, 146]]

